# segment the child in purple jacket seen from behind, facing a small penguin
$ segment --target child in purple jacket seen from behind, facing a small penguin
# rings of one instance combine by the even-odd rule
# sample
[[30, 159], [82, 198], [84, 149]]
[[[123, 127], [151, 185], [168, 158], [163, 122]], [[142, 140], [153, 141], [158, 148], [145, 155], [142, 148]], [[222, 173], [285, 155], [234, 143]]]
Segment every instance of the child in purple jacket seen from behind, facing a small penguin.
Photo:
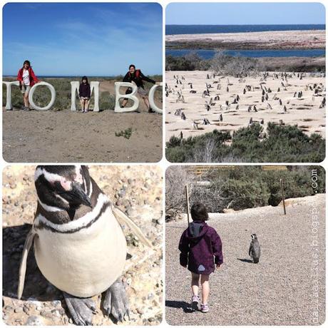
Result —
[[[188, 266], [191, 271], [191, 299], [194, 310], [200, 305], [201, 312], [208, 312], [207, 299], [210, 294], [209, 277], [223, 263], [222, 242], [214, 228], [208, 226], [206, 207], [201, 203], [195, 203], [191, 207], [193, 222], [183, 232], [180, 238], [180, 265]], [[202, 284], [202, 304], [198, 296], [199, 280]]]

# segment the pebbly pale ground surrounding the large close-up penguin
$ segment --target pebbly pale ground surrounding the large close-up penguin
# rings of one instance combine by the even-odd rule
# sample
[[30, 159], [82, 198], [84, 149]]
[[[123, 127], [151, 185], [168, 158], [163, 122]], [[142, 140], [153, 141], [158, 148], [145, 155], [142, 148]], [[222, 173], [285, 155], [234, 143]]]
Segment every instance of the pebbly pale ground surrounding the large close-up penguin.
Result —
[[[124, 324], [159, 324], [163, 314], [162, 282], [162, 171], [157, 166], [91, 166], [91, 176], [140, 227], [153, 244], [141, 245], [128, 230], [128, 259], [123, 281], [130, 303], [130, 321]], [[32, 165], [7, 166], [3, 173], [3, 320], [9, 325], [73, 324], [66, 303], [58, 289], [41, 275], [33, 252], [27, 262], [24, 293], [17, 299], [18, 269], [26, 234], [36, 210]], [[94, 325], [113, 325], [101, 310], [101, 295], [93, 297], [97, 304]], [[121, 324], [121, 323], [119, 323]]]

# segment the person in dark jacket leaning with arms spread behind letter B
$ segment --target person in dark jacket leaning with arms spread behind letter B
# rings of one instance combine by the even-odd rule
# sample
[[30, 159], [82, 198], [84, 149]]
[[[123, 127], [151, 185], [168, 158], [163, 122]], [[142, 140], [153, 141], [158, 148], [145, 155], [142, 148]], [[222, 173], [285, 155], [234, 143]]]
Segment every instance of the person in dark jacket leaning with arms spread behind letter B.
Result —
[[[137, 86], [138, 93], [140, 97], [143, 98], [143, 101], [145, 102], [145, 106], [147, 106], [148, 108], [148, 113], [153, 113], [153, 110], [150, 108], [148, 93], [147, 91], [145, 91], [143, 81], [156, 84], [156, 81], [152, 80], [151, 78], [148, 78], [147, 76], [144, 76], [143, 73], [140, 71], [140, 69], [135, 69], [135, 66], [131, 64], [128, 68], [128, 73], [126, 73], [123, 78], [123, 82], [130, 82], [135, 84], [135, 86]], [[132, 88], [128, 88], [127, 91], [125, 92], [125, 95], [129, 93], [132, 93]], [[128, 98], [124, 98], [121, 106], [125, 107], [127, 103], [128, 103]]]

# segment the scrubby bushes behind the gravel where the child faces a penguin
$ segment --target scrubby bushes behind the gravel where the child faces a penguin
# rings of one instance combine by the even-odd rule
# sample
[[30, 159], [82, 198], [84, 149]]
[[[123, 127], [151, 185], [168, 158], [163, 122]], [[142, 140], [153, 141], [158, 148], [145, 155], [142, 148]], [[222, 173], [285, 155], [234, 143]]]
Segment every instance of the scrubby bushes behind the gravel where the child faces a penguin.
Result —
[[[312, 188], [312, 169], [317, 170], [316, 190]], [[210, 181], [211, 185], [208, 188], [193, 185], [190, 203], [204, 203], [209, 212], [277, 206], [282, 201], [280, 179], [285, 199], [326, 192], [325, 171], [321, 166], [287, 166], [287, 170], [263, 170], [261, 166], [238, 166], [231, 170], [213, 167], [200, 179]]]

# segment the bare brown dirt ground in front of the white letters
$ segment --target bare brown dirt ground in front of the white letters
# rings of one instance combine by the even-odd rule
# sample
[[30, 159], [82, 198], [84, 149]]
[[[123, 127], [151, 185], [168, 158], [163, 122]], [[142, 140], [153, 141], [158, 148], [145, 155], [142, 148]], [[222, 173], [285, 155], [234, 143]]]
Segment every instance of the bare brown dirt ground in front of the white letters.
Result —
[[[114, 81], [102, 81], [100, 91], [114, 94]], [[163, 116], [148, 113], [142, 99], [140, 113], [3, 108], [2, 121], [3, 157], [9, 163], [156, 163], [162, 159]], [[128, 128], [132, 128], [129, 139], [116, 136]]]

